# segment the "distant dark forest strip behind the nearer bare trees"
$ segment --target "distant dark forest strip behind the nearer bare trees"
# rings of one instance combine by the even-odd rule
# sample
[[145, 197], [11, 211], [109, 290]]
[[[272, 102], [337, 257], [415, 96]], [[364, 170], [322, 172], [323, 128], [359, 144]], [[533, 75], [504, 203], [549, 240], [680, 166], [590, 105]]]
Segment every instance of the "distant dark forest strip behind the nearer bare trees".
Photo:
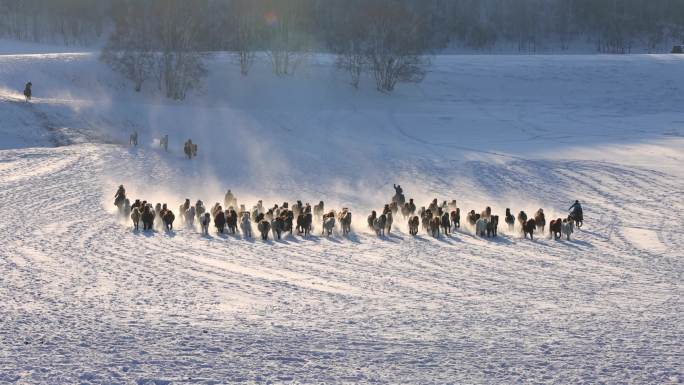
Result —
[[[127, 9], [187, 5], [199, 28], [193, 44], [209, 51], [236, 49], [241, 14], [265, 29], [296, 10], [292, 32], [305, 36], [309, 48], [332, 50], [360, 13], [401, 7], [426, 23], [422, 43], [433, 50], [512, 43], [533, 52], [540, 44], [567, 49], [589, 42], [600, 52], [628, 53], [684, 38], [683, 0], [0, 0], [0, 36], [92, 44], [121, 24]], [[267, 48], [265, 34], [259, 43]]]

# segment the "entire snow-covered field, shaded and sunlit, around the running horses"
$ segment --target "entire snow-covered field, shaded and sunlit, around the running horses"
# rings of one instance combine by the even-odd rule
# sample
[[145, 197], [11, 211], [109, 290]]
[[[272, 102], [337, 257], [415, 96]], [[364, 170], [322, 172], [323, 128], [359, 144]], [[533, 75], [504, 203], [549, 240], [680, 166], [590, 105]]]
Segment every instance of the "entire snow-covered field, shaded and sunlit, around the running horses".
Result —
[[[281, 79], [217, 55], [175, 103], [97, 54], [1, 44], [0, 383], [684, 382], [680, 57], [439, 56], [388, 96], [325, 56]], [[138, 233], [122, 183], [172, 209], [322, 199], [354, 231]], [[499, 215], [579, 199], [586, 223], [570, 242], [377, 238], [392, 183]]]

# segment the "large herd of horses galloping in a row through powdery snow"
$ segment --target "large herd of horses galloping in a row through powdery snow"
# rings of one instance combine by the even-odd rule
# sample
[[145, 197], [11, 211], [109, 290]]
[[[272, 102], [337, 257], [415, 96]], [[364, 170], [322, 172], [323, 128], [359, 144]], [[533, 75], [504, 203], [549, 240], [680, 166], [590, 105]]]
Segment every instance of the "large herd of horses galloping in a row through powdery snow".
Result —
[[[394, 185], [394, 189], [395, 195], [391, 203], [386, 204], [381, 212], [372, 211], [368, 216], [367, 225], [378, 236], [389, 234], [399, 215], [408, 222], [409, 233], [413, 236], [419, 233], [421, 227], [433, 237], [449, 235], [461, 227], [461, 209], [456, 200], [439, 204], [438, 200], [434, 199], [427, 206], [418, 208], [413, 199], [406, 201], [401, 186]], [[142, 222], [143, 231], [151, 231], [155, 228], [155, 221], [157, 227], [163, 227], [167, 231], [173, 230], [176, 214], [165, 203], [153, 205], [140, 199], [131, 202], [122, 185], [114, 196], [114, 204], [122, 216], [131, 218], [135, 230], [139, 230], [139, 224]], [[575, 227], [582, 226], [582, 207], [579, 202], [575, 202], [570, 210], [567, 218], [557, 218], [548, 222], [549, 233], [554, 239], [565, 236], [570, 240]], [[339, 212], [326, 211], [323, 201], [313, 207], [309, 203], [297, 201], [292, 205], [285, 202], [266, 208], [262, 201], [258, 201], [251, 210], [248, 210], [244, 204], [238, 205], [237, 198], [230, 190], [224, 197], [223, 206], [217, 202], [211, 208], [207, 208], [201, 200], [193, 205], [190, 199], [186, 199], [178, 207], [177, 213], [180, 222], [188, 227], [194, 227], [195, 222], [198, 222], [205, 235], [209, 234], [209, 227], [213, 224], [219, 234], [226, 231], [230, 234], [241, 232], [244, 237], [251, 238], [252, 227], [256, 226], [263, 240], [268, 240], [271, 233], [273, 238], [281, 239], [283, 234], [294, 234], [295, 231], [306, 237], [312, 233], [315, 221], [321, 224], [321, 235], [324, 236], [332, 236], [338, 223], [342, 234], [346, 236], [351, 232], [352, 225], [352, 213], [348, 208], [343, 208]], [[480, 213], [471, 210], [466, 214], [467, 224], [480, 237], [496, 237], [499, 220], [500, 217], [492, 214], [490, 207]], [[544, 233], [547, 226], [543, 209], [539, 209], [531, 217], [524, 211], [520, 211], [517, 217], [514, 217], [507, 208], [503, 220], [509, 231], [514, 230], [517, 221], [521, 233], [530, 239], [534, 239], [535, 232]]]

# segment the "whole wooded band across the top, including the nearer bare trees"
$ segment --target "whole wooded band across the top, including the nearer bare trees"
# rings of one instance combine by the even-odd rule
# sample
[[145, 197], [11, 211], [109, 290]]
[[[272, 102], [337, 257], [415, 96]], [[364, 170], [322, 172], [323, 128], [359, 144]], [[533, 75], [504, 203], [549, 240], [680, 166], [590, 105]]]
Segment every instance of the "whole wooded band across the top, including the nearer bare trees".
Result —
[[0, 36], [104, 41], [103, 59], [136, 89], [154, 81], [174, 99], [199, 84], [212, 51], [235, 52], [243, 75], [264, 53], [280, 76], [331, 52], [352, 85], [368, 73], [390, 92], [450, 46], [656, 51], [684, 39], [684, 0], [0, 0]]

